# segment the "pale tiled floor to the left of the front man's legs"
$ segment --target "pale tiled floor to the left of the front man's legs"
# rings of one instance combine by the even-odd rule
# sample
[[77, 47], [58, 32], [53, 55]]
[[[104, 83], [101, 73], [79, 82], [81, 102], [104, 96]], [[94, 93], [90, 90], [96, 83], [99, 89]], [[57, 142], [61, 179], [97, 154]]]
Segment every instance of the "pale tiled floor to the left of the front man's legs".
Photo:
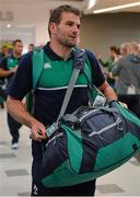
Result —
[[22, 127], [20, 148], [12, 150], [5, 109], [0, 109], [0, 196], [28, 196], [31, 190], [31, 140]]

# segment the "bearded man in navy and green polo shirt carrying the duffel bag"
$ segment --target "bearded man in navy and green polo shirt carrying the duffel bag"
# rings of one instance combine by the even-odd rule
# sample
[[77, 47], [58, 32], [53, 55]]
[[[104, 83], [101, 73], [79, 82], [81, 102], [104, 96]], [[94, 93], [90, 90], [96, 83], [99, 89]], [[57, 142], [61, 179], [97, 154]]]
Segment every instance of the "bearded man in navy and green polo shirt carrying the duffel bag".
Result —
[[[48, 32], [50, 42], [44, 47], [44, 67], [36, 86], [34, 116], [28, 114], [22, 104], [22, 99], [32, 90], [32, 53], [24, 56], [14, 80], [8, 90], [7, 101], [9, 113], [20, 123], [31, 128], [32, 138], [32, 196], [93, 196], [95, 179], [67, 187], [44, 187], [43, 178], [43, 148], [48, 138], [46, 127], [51, 125], [58, 117], [61, 104], [71, 78], [73, 50], [79, 43], [80, 11], [77, 8], [65, 4], [56, 8], [49, 18]], [[114, 90], [105, 81], [94, 54], [86, 51], [93, 69], [93, 84], [104, 93], [108, 100], [116, 100]], [[49, 60], [48, 60], [49, 59]], [[89, 105], [88, 80], [81, 73], [82, 83], [78, 78], [72, 97], [67, 107], [67, 113], [75, 111], [80, 106]], [[42, 135], [38, 134], [42, 131]]]

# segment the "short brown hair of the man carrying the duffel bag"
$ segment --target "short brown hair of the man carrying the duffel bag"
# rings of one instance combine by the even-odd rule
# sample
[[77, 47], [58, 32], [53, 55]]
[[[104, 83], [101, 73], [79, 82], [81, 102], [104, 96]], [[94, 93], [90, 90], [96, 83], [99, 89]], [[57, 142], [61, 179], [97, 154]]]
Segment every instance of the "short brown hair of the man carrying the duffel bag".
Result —
[[73, 14], [75, 14], [78, 16], [81, 15], [81, 12], [80, 12], [79, 9], [77, 9], [74, 7], [71, 7], [69, 4], [63, 4], [63, 5], [60, 5], [60, 7], [56, 8], [55, 10], [51, 10], [50, 11], [49, 22], [48, 22], [48, 33], [49, 33], [49, 36], [50, 36], [49, 24], [51, 22], [59, 24], [60, 21], [61, 21], [62, 12], [70, 12], [70, 13], [73, 13]]

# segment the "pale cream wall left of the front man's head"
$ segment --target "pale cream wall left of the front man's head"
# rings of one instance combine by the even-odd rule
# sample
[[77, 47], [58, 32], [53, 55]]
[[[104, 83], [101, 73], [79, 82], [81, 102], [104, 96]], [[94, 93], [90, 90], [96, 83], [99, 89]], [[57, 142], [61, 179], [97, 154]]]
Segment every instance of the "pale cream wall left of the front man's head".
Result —
[[[13, 12], [13, 27], [34, 27], [35, 44], [46, 43], [48, 40], [47, 23], [49, 9], [44, 3], [2, 3], [0, 7], [2, 12]], [[1, 22], [5, 26], [8, 22]]]

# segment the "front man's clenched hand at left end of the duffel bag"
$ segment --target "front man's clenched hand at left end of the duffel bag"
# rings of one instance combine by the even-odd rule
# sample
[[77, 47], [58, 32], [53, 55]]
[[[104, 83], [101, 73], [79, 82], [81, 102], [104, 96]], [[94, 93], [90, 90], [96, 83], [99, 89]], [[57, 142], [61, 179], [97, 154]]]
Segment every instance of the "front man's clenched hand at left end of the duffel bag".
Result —
[[38, 141], [47, 139], [45, 126], [39, 121], [34, 123], [31, 128], [30, 138]]

